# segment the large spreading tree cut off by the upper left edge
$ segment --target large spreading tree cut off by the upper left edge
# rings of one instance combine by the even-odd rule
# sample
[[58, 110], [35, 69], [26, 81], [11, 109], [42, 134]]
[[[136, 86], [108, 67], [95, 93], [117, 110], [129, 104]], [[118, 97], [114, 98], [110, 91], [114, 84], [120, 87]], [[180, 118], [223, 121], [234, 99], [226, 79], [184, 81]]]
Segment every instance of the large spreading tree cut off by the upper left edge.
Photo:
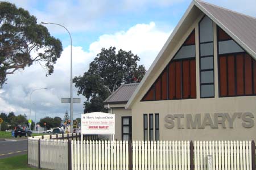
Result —
[[37, 24], [35, 16], [14, 4], [0, 2], [0, 87], [6, 75], [35, 62], [47, 70], [47, 75], [52, 74], [62, 50], [60, 40]]

